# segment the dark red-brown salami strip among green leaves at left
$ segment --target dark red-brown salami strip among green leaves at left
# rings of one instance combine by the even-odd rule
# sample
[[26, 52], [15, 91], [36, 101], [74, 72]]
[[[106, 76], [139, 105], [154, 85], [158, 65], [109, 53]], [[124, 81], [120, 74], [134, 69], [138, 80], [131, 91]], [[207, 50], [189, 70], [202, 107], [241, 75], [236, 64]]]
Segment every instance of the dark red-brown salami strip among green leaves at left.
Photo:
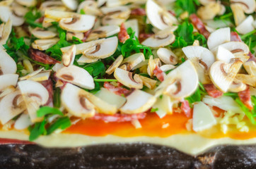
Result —
[[29, 49], [28, 54], [30, 58], [32, 58], [34, 61], [37, 61], [40, 63], [50, 64], [50, 65], [60, 63], [60, 61], [55, 60], [51, 56], [37, 49]]

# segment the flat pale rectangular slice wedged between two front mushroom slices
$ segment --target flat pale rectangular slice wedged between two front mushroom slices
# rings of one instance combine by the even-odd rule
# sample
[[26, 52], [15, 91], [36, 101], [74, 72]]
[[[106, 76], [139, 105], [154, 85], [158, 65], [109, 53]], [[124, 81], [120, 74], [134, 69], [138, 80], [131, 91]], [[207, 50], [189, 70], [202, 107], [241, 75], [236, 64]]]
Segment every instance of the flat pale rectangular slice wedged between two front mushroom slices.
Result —
[[106, 101], [108, 104], [115, 105], [117, 108], [120, 108], [126, 102], [125, 97], [114, 94], [103, 87], [95, 94], [95, 96], [98, 96], [98, 98]]

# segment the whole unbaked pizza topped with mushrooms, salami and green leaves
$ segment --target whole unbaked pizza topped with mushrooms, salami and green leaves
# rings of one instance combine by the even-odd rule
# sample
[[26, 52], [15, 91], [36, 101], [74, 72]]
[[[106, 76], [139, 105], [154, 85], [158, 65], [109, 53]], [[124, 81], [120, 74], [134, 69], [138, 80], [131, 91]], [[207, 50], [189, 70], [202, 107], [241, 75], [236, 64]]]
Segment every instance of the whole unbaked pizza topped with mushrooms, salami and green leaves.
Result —
[[0, 1], [2, 142], [255, 144], [255, 6]]

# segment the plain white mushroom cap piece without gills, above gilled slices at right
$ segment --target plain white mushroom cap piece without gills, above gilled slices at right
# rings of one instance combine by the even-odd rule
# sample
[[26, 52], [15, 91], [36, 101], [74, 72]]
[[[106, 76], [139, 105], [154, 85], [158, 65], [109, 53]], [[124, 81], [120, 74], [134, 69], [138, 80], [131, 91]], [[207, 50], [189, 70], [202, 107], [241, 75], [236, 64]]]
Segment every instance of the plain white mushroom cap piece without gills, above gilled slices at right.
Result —
[[223, 27], [219, 30], [215, 30], [207, 39], [207, 45], [210, 50], [214, 49], [216, 46], [223, 44], [225, 42], [231, 41], [231, 28]]

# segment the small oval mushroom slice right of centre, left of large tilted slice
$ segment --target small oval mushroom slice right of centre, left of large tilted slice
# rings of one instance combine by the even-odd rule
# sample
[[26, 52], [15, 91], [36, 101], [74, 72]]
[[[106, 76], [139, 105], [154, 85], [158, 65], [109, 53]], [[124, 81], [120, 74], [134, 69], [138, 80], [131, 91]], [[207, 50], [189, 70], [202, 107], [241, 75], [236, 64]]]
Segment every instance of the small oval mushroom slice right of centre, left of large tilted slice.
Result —
[[178, 56], [176, 56], [170, 49], [159, 48], [157, 55], [165, 64], [175, 65], [178, 63]]

